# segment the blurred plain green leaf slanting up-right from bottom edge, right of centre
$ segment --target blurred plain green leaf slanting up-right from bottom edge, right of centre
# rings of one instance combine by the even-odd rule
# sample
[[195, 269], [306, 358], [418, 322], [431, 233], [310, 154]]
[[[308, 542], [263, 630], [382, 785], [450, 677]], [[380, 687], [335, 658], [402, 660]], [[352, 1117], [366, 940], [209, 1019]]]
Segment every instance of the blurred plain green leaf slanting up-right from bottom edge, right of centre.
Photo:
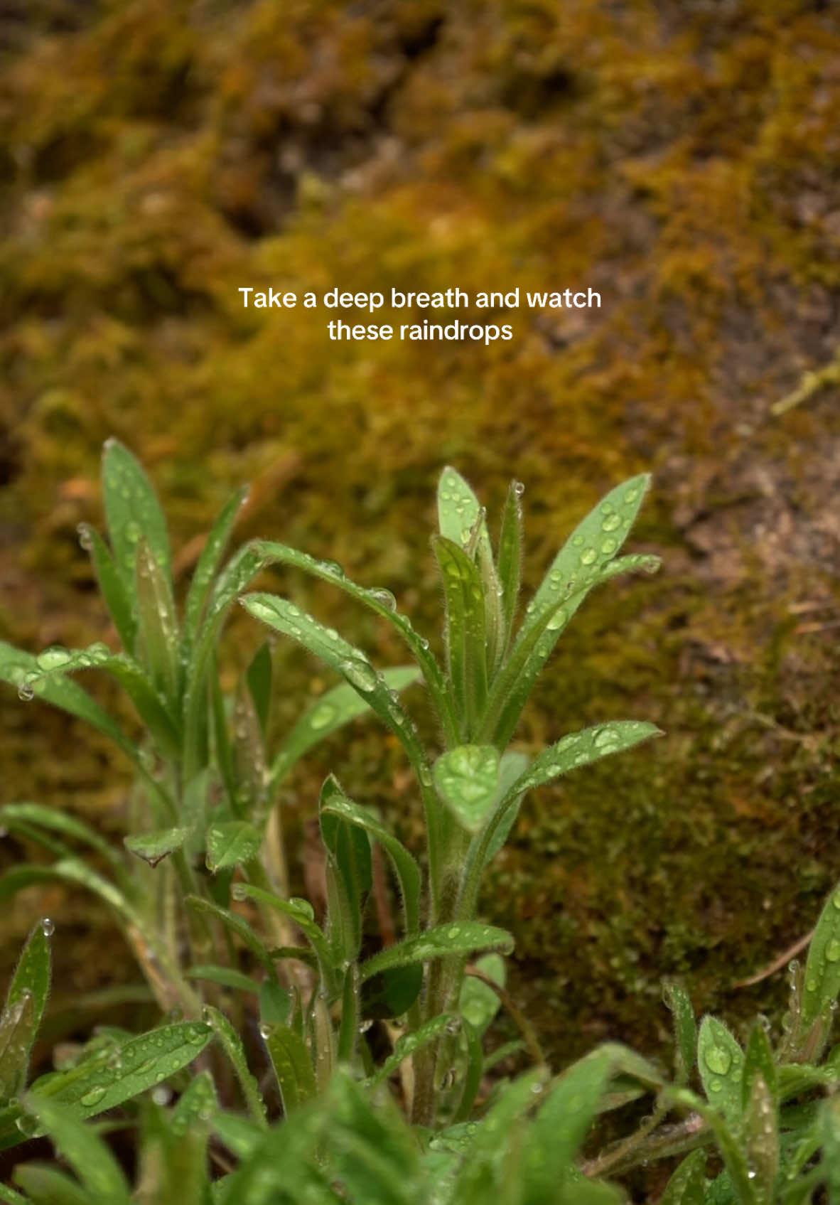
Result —
[[542, 1205], [566, 1178], [606, 1092], [609, 1053], [593, 1051], [557, 1080], [531, 1122], [522, 1160], [522, 1205]]

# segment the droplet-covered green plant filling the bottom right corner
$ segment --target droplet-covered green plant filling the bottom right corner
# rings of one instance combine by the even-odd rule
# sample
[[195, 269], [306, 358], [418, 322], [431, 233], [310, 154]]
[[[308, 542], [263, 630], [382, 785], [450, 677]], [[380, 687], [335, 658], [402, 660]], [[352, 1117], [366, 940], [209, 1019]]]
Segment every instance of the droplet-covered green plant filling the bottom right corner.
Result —
[[[771, 1041], [757, 1019], [742, 1047], [716, 1017], [699, 1029], [691, 1001], [666, 986], [675, 1075], [657, 1088], [642, 1127], [591, 1160], [599, 1176], [687, 1154], [662, 1205], [800, 1205], [838, 1199], [840, 1046], [827, 1052], [840, 995], [840, 884], [829, 895], [807, 960], [789, 965], [791, 1000]], [[672, 1121], [674, 1115], [681, 1119]], [[706, 1178], [707, 1147], [723, 1170]], [[826, 1193], [823, 1197], [821, 1193]]]

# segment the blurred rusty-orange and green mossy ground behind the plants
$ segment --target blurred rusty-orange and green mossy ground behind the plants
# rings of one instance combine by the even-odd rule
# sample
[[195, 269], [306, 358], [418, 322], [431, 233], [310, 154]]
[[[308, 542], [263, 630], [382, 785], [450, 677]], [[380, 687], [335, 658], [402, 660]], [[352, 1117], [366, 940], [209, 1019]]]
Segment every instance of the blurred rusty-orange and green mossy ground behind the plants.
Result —
[[[666, 974], [735, 1024], [773, 1013], [783, 975], [733, 984], [840, 872], [836, 5], [0, 0], [0, 639], [108, 639], [76, 534], [101, 522], [108, 435], [155, 481], [182, 575], [249, 481], [239, 536], [340, 560], [429, 635], [444, 464], [491, 516], [525, 483], [529, 587], [650, 469], [633, 551], [664, 570], [587, 602], [518, 735], [668, 736], [529, 799], [484, 911], [516, 933], [512, 991], [557, 1059], [663, 1046]], [[591, 286], [603, 305], [513, 311], [488, 348], [337, 345], [321, 311], [242, 310], [248, 284]], [[399, 659], [325, 587], [266, 584]], [[329, 683], [277, 659], [282, 719]], [[95, 735], [5, 688], [0, 724], [4, 801], [121, 839], [127, 766]], [[411, 834], [372, 724], [307, 763], [290, 816], [328, 768]], [[2, 865], [25, 853], [0, 842]], [[4, 971], [45, 911], [59, 998], [136, 980], [58, 888], [4, 909]]]

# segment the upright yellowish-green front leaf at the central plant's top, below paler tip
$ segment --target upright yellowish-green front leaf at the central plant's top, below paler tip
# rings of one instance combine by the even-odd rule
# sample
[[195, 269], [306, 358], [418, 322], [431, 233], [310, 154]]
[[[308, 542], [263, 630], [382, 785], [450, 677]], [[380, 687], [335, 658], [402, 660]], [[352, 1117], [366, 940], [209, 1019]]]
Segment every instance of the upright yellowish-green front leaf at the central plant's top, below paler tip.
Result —
[[487, 616], [484, 590], [476, 564], [458, 545], [433, 540], [446, 604], [446, 653], [452, 689], [463, 717], [463, 731], [477, 729], [487, 701]]

